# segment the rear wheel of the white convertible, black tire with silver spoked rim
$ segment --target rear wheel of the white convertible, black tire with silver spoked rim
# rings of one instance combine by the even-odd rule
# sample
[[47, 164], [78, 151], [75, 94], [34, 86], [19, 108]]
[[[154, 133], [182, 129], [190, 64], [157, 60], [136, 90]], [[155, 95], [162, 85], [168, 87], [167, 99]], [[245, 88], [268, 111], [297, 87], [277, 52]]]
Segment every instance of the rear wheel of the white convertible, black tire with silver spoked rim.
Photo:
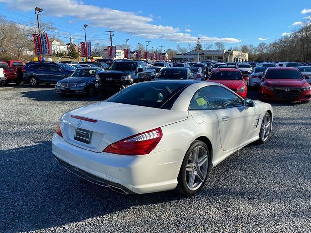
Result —
[[[198, 163], [194, 162], [195, 161], [194, 160], [194, 154], [193, 154], [194, 149], [203, 152], [202, 154], [204, 154], [204, 155], [202, 155], [200, 158], [202, 159], [202, 161], [206, 160], [204, 162], [204, 165], [199, 166], [200, 160], [197, 161]], [[200, 152], [198, 152], [198, 156], [197, 156], [198, 158], [200, 156], [199, 153]], [[203, 159], [203, 157], [204, 157], [204, 159]], [[189, 160], [190, 160], [190, 163], [188, 163]], [[193, 165], [191, 166], [191, 164], [193, 164]], [[209, 164], [210, 164], [210, 154], [209, 154], [209, 150], [208, 150], [207, 145], [202, 141], [195, 140], [190, 145], [189, 149], [187, 150], [186, 155], [184, 157], [184, 160], [182, 162], [182, 165], [180, 167], [180, 171], [179, 171], [178, 178], [177, 178], [178, 184], [177, 184], [176, 190], [179, 193], [187, 195], [187, 196], [191, 196], [191, 195], [194, 195], [194, 194], [200, 192], [200, 190], [203, 188], [203, 186], [207, 180], [207, 176], [208, 176], [208, 172], [209, 172]], [[191, 171], [186, 171], [187, 165], [188, 165], [188, 169], [190, 169]], [[201, 167], [202, 167], [203, 171], [201, 171]], [[201, 174], [201, 178], [199, 178], [200, 177], [199, 171]], [[187, 172], [188, 172], [188, 174], [187, 174]], [[189, 176], [188, 181], [187, 181], [187, 176]], [[191, 190], [189, 187], [189, 183], [191, 183], [190, 182], [190, 179], [191, 179], [190, 176], [195, 177], [193, 180], [193, 186], [197, 185], [197, 187], [194, 187], [193, 190]], [[204, 179], [202, 179], [202, 178], [204, 178]], [[200, 181], [200, 179], [201, 179], [201, 181]], [[203, 182], [202, 182], [202, 180], [203, 180]], [[195, 181], [197, 181], [197, 183], [194, 183]]]

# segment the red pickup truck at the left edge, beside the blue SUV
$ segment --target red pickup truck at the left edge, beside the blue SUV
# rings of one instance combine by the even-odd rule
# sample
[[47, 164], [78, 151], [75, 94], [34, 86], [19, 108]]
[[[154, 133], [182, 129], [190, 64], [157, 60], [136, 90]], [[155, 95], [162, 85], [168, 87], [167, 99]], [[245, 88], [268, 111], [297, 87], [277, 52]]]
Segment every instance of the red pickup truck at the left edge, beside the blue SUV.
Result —
[[24, 64], [22, 61], [9, 60], [0, 62], [0, 68], [4, 69], [4, 75], [7, 77], [5, 81], [2, 81], [2, 85], [9, 83], [19, 84], [23, 81], [23, 69]]

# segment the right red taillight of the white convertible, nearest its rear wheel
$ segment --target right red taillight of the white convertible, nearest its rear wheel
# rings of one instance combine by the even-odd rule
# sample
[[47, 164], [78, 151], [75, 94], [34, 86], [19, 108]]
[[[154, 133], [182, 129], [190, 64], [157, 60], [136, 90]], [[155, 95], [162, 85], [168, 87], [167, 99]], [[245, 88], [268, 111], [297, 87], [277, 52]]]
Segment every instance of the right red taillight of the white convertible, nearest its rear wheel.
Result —
[[120, 155], [149, 154], [162, 138], [161, 128], [139, 133], [110, 144], [104, 152]]

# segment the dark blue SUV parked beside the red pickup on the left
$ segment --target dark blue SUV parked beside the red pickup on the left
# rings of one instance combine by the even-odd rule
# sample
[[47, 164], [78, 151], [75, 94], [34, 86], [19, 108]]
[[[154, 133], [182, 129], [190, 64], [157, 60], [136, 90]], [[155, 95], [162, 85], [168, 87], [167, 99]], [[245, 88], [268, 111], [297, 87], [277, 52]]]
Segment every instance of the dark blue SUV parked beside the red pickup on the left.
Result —
[[76, 68], [64, 63], [29, 62], [23, 69], [23, 81], [31, 86], [37, 86], [40, 83], [49, 85], [68, 77], [75, 70]]

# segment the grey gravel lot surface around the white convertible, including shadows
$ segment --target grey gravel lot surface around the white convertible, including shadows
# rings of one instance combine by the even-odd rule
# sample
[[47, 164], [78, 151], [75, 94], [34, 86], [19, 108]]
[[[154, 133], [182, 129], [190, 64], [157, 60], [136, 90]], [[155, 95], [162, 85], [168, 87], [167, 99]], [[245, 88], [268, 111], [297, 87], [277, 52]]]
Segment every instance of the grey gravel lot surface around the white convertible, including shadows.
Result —
[[99, 100], [60, 97], [53, 86], [0, 88], [1, 233], [311, 232], [311, 104], [272, 103], [269, 142], [216, 166], [194, 197], [124, 196], [52, 155], [60, 116]]

